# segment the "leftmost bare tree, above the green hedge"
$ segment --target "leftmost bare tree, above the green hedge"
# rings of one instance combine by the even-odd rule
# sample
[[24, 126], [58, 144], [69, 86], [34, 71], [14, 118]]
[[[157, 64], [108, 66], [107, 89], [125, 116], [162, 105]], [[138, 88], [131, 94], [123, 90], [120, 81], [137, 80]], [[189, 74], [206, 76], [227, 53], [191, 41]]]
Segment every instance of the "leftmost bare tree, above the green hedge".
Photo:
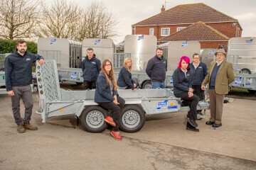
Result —
[[40, 5], [40, 0], [0, 0], [0, 38], [31, 38]]

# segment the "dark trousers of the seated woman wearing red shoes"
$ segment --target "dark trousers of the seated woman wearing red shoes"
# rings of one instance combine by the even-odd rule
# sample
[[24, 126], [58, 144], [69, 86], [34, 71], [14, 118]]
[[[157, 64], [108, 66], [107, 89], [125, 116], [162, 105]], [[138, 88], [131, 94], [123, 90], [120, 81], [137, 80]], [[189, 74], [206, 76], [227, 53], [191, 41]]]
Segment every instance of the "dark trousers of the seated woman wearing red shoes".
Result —
[[119, 105], [116, 105], [114, 102], [98, 103], [102, 108], [105, 108], [110, 112], [110, 117], [113, 118], [114, 123], [116, 123], [116, 126], [113, 126], [112, 128], [114, 132], [119, 131], [120, 111], [124, 107], [125, 101], [122, 97], [117, 96], [117, 102]]

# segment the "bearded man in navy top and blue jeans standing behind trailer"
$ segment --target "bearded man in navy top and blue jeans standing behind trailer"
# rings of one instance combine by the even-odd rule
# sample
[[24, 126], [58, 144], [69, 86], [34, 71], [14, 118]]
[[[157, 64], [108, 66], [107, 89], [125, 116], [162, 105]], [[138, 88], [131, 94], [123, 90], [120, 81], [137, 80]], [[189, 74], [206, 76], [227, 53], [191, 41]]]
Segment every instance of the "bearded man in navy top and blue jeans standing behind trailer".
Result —
[[146, 74], [151, 79], [152, 89], [161, 88], [165, 89], [165, 78], [167, 71], [167, 60], [163, 56], [163, 50], [158, 47], [156, 49], [156, 55], [149, 60], [146, 65]]

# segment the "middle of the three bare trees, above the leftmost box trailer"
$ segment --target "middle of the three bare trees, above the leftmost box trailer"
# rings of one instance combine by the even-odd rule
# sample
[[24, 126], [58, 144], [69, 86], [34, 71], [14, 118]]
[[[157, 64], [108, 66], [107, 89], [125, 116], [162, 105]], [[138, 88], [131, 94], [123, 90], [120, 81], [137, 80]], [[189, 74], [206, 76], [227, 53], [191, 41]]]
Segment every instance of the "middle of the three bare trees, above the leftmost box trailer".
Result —
[[66, 0], [54, 1], [52, 6], [43, 8], [43, 18], [37, 35], [73, 39], [78, 29], [80, 13], [81, 10], [76, 4], [68, 4]]

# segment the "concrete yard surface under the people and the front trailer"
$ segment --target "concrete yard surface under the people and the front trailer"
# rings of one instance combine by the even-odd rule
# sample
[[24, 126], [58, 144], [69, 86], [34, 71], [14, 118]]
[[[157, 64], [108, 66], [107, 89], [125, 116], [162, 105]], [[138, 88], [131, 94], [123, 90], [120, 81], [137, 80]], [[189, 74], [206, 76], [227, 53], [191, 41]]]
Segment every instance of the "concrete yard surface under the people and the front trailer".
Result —
[[121, 132], [123, 140], [117, 141], [110, 130], [76, 128], [74, 115], [41, 123], [37, 96], [31, 123], [39, 130], [19, 134], [11, 98], [0, 95], [0, 169], [256, 169], [253, 100], [225, 104], [221, 128], [205, 124], [209, 111], [197, 121], [199, 133], [185, 130], [186, 113], [151, 115], [142, 130]]

